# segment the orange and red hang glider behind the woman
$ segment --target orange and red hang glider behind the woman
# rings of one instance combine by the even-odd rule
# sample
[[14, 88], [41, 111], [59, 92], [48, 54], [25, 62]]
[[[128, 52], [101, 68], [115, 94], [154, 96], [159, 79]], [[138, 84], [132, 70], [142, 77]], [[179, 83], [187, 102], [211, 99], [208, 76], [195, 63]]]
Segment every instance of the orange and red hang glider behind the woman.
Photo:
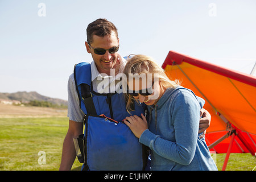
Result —
[[[242, 63], [241, 63], [242, 64]], [[170, 51], [162, 68], [172, 80], [204, 98], [211, 114], [205, 140], [211, 151], [256, 152], [256, 77]]]

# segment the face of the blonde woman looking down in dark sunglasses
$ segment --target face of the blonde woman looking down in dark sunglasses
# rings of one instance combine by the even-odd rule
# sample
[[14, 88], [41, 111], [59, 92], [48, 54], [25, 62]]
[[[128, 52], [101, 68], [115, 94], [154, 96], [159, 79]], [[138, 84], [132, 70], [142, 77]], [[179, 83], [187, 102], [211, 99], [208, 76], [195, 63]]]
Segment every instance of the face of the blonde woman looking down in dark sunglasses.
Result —
[[129, 87], [129, 90], [133, 90], [134, 93], [137, 93], [137, 94], [132, 94], [134, 99], [139, 100], [139, 102], [141, 103], [144, 102], [144, 104], [148, 106], [155, 105], [156, 102], [158, 102], [158, 100], [161, 97], [159, 82], [158, 81], [155, 81], [155, 82], [146, 81], [146, 82], [147, 84], [145, 84], [145, 82], [143, 82], [142, 79], [139, 79], [139, 80], [133, 80], [133, 81], [127, 82], [127, 85]]

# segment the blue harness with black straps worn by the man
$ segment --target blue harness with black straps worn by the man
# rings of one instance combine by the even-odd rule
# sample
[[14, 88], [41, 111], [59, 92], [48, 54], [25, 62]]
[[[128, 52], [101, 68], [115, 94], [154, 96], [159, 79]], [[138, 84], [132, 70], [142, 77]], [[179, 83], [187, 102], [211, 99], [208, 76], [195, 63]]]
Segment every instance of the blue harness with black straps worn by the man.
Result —
[[[76, 89], [85, 114], [82, 170], [143, 170], [146, 146], [122, 122], [130, 116], [123, 94], [94, 92], [91, 75], [89, 63], [75, 65]], [[134, 109], [132, 115], [144, 113], [142, 105], [134, 104]]]

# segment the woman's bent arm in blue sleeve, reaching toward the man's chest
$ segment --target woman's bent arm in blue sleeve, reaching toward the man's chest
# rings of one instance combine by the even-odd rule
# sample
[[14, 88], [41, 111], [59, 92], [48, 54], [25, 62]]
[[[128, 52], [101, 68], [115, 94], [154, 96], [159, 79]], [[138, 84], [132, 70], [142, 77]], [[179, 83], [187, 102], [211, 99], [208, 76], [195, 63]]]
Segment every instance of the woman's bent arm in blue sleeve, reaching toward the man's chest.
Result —
[[[187, 92], [177, 94], [170, 105], [170, 124], [174, 125], [175, 142], [161, 138], [159, 135], [144, 130], [139, 142], [150, 147], [156, 154], [174, 162], [188, 165], [196, 150], [199, 130], [200, 106], [196, 99]], [[163, 121], [158, 121], [163, 122]]]

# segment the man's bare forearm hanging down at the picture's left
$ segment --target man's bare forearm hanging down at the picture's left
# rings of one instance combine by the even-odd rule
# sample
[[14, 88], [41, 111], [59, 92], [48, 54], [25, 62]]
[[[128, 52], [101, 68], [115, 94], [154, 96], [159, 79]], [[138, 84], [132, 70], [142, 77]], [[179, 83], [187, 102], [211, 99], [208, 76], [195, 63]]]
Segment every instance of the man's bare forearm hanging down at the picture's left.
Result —
[[60, 163], [60, 171], [71, 170], [71, 167], [76, 159], [76, 150], [73, 138], [77, 138], [82, 134], [82, 122], [69, 120], [69, 128], [63, 142], [63, 150]]

